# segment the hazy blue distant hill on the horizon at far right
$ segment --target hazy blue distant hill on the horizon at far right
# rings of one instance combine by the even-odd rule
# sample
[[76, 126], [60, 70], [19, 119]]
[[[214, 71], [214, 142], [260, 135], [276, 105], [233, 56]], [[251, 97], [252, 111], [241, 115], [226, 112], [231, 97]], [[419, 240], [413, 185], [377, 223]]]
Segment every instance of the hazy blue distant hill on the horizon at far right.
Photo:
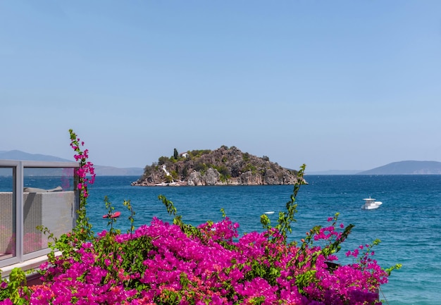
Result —
[[399, 161], [365, 170], [358, 175], [440, 175], [441, 162]]

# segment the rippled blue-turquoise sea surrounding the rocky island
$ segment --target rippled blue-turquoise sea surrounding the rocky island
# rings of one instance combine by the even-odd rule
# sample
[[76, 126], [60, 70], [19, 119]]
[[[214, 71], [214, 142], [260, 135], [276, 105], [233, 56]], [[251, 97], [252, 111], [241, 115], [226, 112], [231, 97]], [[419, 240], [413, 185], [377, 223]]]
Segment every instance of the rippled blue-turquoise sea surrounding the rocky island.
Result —
[[[89, 187], [87, 216], [95, 233], [109, 230], [104, 198], [121, 216], [113, 228], [130, 230], [130, 211], [123, 205], [130, 200], [135, 211], [135, 228], [156, 217], [171, 222], [159, 195], [173, 201], [185, 223], [199, 225], [223, 219], [223, 211], [239, 223], [239, 233], [263, 230], [263, 213], [275, 225], [278, 212], [285, 211], [292, 185], [135, 187], [137, 176], [97, 176]], [[43, 178], [42, 178], [43, 179]], [[380, 287], [380, 299], [390, 305], [441, 304], [441, 175], [305, 175], [308, 182], [297, 194], [296, 221], [290, 240], [300, 240], [315, 225], [328, 225], [328, 218], [339, 214], [339, 223], [354, 229], [338, 253], [340, 263], [352, 263], [344, 253], [359, 245], [371, 244], [380, 266], [394, 270], [389, 282]], [[35, 178], [34, 178], [35, 180]], [[25, 187], [31, 182], [25, 180]], [[1, 186], [1, 183], [0, 183]], [[39, 185], [37, 187], [44, 187]], [[52, 188], [56, 185], [47, 185]], [[383, 204], [364, 210], [363, 199], [372, 197]], [[271, 213], [274, 212], [274, 213]]]

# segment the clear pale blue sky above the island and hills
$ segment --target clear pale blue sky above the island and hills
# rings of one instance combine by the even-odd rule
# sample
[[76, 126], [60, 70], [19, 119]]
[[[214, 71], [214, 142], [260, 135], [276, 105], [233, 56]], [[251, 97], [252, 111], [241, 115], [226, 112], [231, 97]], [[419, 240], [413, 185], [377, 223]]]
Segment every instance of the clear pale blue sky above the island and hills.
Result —
[[441, 161], [441, 1], [0, 1], [0, 151]]

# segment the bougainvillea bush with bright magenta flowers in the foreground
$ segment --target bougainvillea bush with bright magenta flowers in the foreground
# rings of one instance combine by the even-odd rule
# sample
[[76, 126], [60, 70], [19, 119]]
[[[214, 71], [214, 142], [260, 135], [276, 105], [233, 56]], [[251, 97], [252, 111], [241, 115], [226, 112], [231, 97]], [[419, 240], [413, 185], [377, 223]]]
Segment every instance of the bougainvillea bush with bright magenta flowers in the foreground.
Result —
[[[78, 153], [79, 145], [74, 146]], [[304, 166], [299, 181], [303, 171]], [[85, 199], [87, 173], [81, 173]], [[381, 304], [378, 287], [399, 266], [384, 270], [373, 260], [371, 249], [378, 240], [348, 251], [354, 263], [339, 265], [336, 254], [353, 225], [344, 227], [335, 215], [301, 241], [287, 242], [300, 185], [294, 185], [277, 225], [272, 227], [263, 215], [263, 232], [243, 236], [225, 213], [218, 223], [187, 225], [163, 196], [159, 199], [175, 216], [173, 223], [154, 218], [124, 234], [113, 230], [115, 220], [109, 220], [110, 230], [94, 235], [80, 211], [73, 232], [51, 244], [62, 255], [50, 255], [40, 267], [42, 284], [15, 290], [20, 298], [0, 294], [0, 304]], [[130, 201], [124, 204], [133, 222]], [[111, 213], [107, 200], [106, 206]], [[84, 200], [80, 209], [85, 208]], [[0, 289], [6, 292], [7, 286]]]

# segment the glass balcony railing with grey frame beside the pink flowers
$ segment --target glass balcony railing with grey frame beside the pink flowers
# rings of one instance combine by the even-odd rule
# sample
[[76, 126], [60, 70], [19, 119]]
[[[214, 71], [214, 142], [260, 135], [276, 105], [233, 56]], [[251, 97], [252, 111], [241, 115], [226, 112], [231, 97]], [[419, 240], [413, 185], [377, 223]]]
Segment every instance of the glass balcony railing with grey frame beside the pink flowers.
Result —
[[[75, 226], [75, 162], [0, 160], [0, 269], [49, 253], [48, 236]], [[33, 268], [33, 267], [30, 267]]]

